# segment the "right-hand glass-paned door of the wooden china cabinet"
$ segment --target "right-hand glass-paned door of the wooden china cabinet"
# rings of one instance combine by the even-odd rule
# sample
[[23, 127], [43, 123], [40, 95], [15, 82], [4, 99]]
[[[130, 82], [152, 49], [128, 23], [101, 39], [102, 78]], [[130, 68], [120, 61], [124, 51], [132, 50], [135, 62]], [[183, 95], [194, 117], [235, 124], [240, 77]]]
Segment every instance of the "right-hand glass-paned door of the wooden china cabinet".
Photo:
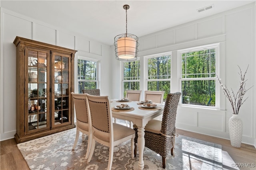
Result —
[[67, 124], [71, 122], [70, 119], [70, 56], [52, 53], [52, 58], [54, 59], [54, 77], [52, 81], [53, 86], [53, 109], [54, 115], [52, 119], [54, 120], [53, 127]]

